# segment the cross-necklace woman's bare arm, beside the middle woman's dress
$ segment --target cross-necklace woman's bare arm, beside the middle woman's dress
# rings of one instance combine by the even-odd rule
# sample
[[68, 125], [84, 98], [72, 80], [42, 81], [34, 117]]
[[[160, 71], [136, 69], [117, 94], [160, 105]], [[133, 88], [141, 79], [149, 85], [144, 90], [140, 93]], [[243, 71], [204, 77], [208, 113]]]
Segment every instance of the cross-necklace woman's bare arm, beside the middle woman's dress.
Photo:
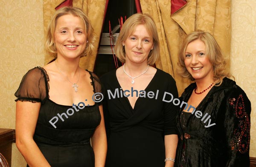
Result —
[[99, 111], [101, 114], [101, 121], [99, 126], [96, 128], [91, 140], [95, 154], [95, 167], [104, 167], [107, 154], [107, 137], [102, 105], [99, 106]]

